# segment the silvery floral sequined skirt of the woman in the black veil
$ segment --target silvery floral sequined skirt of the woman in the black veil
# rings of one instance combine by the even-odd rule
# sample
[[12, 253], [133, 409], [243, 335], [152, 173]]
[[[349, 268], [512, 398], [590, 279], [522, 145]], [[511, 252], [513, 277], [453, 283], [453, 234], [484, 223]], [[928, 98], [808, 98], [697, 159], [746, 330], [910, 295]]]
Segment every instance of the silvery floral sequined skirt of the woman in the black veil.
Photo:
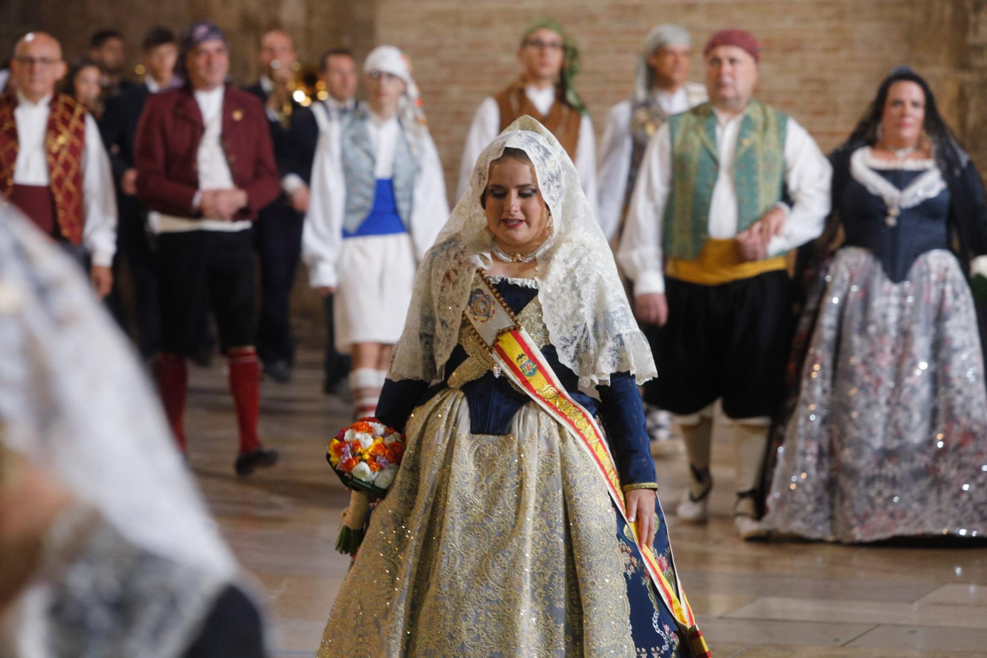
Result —
[[826, 278], [765, 525], [874, 541], [987, 533], [987, 394], [969, 286], [946, 250], [892, 283], [844, 247]]

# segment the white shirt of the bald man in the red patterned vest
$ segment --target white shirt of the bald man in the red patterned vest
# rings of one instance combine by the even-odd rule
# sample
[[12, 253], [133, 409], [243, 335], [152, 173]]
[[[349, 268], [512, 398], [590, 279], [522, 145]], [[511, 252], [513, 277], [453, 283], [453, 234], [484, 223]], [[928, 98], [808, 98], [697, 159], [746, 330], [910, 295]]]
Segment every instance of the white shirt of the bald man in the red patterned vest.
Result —
[[[17, 94], [14, 121], [17, 123], [18, 151], [14, 164], [14, 184], [48, 186], [48, 160], [44, 136], [50, 115], [51, 96], [32, 103]], [[82, 240], [93, 265], [110, 267], [116, 253], [116, 195], [110, 156], [103, 145], [100, 127], [86, 113], [86, 140], [82, 149]]]

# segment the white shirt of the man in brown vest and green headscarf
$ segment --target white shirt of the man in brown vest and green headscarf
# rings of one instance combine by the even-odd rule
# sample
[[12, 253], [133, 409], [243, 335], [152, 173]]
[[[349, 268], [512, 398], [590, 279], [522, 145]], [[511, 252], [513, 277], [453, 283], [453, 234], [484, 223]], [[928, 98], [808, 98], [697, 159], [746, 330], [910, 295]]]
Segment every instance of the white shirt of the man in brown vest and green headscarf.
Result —
[[[547, 115], [552, 109], [552, 104], [556, 100], [555, 87], [539, 89], [534, 85], [524, 88], [524, 95], [528, 97], [535, 109], [543, 115]], [[500, 108], [496, 104], [496, 99], [490, 96], [477, 108], [477, 114], [470, 125], [470, 131], [466, 135], [466, 143], [463, 146], [463, 158], [459, 165], [459, 184], [456, 186], [456, 199], [459, 200], [466, 192], [466, 187], [470, 183], [470, 175], [473, 173], [473, 166], [477, 163], [480, 153], [487, 148], [487, 144], [500, 133]], [[579, 121], [579, 142], [575, 148], [575, 170], [579, 172], [579, 184], [586, 194], [589, 205], [596, 209], [596, 135], [593, 134], [593, 122], [589, 115], [583, 115]]]

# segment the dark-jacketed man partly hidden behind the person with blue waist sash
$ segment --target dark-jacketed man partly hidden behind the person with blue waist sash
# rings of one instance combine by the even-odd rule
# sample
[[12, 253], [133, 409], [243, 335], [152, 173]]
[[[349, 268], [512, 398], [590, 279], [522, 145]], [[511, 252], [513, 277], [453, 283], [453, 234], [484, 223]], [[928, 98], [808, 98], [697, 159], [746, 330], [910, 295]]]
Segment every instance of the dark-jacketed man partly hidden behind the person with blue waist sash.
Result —
[[[312, 164], [315, 160], [319, 136], [330, 123], [341, 123], [361, 107], [355, 99], [356, 60], [348, 48], [331, 48], [322, 53], [319, 71], [326, 83], [326, 97], [317, 98], [307, 108], [298, 108], [291, 115], [291, 173], [281, 182], [284, 191], [291, 196], [295, 208], [308, 212], [312, 183]], [[336, 349], [333, 304], [335, 293], [323, 297], [326, 311], [326, 376], [323, 390], [335, 393], [346, 390], [340, 384], [349, 374], [350, 358]]]

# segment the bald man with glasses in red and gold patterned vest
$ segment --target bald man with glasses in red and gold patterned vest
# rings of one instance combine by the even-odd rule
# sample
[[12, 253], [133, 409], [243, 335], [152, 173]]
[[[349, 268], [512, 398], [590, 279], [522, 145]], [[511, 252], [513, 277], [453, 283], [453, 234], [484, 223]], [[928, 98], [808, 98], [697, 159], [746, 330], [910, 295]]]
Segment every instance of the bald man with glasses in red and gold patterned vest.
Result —
[[17, 92], [0, 97], [0, 193], [80, 262], [91, 261], [100, 296], [113, 287], [116, 200], [96, 121], [55, 83], [61, 45], [34, 32], [17, 42]]

